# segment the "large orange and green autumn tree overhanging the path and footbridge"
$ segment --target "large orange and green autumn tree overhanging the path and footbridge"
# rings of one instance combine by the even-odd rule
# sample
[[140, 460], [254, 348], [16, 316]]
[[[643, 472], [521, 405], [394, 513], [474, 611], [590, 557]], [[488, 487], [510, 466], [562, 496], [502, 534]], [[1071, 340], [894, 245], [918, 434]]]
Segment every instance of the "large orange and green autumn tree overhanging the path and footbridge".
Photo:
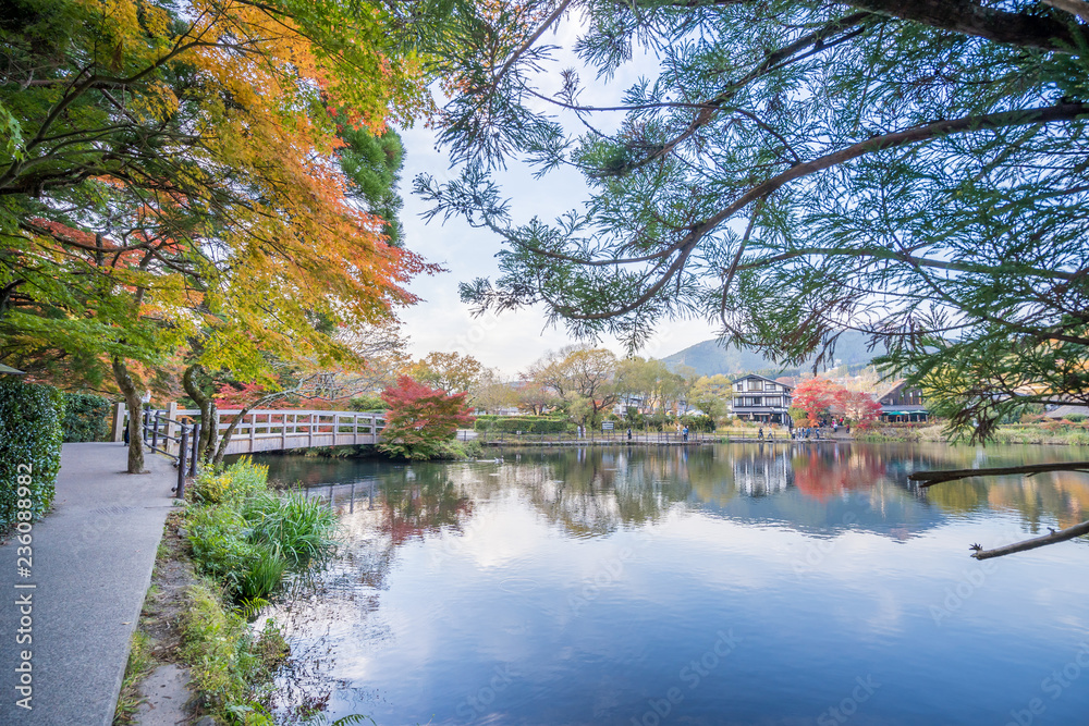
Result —
[[397, 23], [341, 3], [5, 5], [4, 357], [107, 361], [135, 421], [126, 361], [159, 367], [179, 335], [204, 371], [267, 379], [269, 354], [343, 360], [326, 329], [414, 302], [404, 283], [432, 268], [333, 163], [424, 102]]

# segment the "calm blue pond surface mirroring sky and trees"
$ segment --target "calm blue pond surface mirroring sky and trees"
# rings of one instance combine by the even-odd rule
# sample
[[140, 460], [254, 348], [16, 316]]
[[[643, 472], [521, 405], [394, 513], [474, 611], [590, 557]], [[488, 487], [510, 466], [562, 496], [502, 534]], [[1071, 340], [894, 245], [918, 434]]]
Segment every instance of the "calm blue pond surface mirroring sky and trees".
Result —
[[1063, 447], [522, 450], [502, 462], [268, 457], [343, 524], [276, 613], [310, 666], [286, 713], [400, 724], [1089, 724], [1089, 476], [923, 468]]

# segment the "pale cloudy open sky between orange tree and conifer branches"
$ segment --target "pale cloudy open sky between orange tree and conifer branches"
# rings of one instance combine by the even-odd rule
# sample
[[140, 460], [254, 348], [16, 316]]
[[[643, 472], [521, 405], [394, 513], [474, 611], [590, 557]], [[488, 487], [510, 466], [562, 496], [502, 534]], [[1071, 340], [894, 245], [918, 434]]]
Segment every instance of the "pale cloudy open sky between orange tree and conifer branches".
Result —
[[[571, 21], [565, 22], [551, 42], [570, 47], [576, 26]], [[562, 53], [552, 67], [553, 73], [541, 78], [542, 88], [554, 85], [559, 70], [570, 66], [577, 66], [577, 60]], [[616, 102], [623, 89], [640, 73], [650, 75], [656, 66], [653, 58], [637, 57], [621, 69], [608, 87], [591, 86], [587, 95], [596, 103]], [[594, 77], [592, 72], [580, 72], [579, 75], [583, 78]], [[544, 110], [543, 106], [541, 110]], [[457, 285], [476, 278], [495, 279], [499, 270], [495, 254], [501, 249], [500, 238], [490, 231], [475, 230], [461, 219], [451, 219], [445, 223], [441, 219], [424, 222], [420, 214], [427, 210], [427, 205], [412, 194], [413, 179], [419, 173], [428, 173], [444, 182], [455, 177], [458, 170], [450, 169], [448, 155], [436, 149], [431, 130], [418, 124], [399, 132], [405, 146], [405, 167], [401, 174], [401, 196], [404, 199], [401, 218], [405, 245], [427, 261], [448, 270], [433, 276], [421, 276], [408, 287], [423, 298], [421, 303], [401, 313], [404, 332], [409, 337], [409, 353], [416, 358], [432, 350], [470, 354], [489, 368], [516, 376], [547, 350], [575, 342], [562, 325], [548, 327], [542, 308], [523, 309], [499, 317], [493, 313], [473, 317], [469, 306], [458, 297]], [[582, 176], [572, 170], [559, 170], [542, 180], [535, 180], [527, 167], [512, 161], [498, 180], [504, 196], [512, 201], [511, 211], [516, 223], [527, 222], [534, 216], [551, 222], [567, 210], [582, 209], [583, 201], [588, 197]], [[706, 321], [666, 322], [659, 327], [658, 335], [638, 355], [661, 358], [714, 335], [714, 329]], [[603, 339], [601, 344], [617, 355], [624, 354], [623, 346], [615, 339]]]

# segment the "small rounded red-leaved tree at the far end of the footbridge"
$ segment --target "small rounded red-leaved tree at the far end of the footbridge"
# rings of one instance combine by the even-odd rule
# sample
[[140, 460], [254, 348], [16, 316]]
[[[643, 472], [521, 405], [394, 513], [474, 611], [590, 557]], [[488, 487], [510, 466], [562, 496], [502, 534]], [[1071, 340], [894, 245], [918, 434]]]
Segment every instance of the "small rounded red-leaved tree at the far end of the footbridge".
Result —
[[428, 459], [440, 455], [457, 427], [473, 423], [466, 395], [449, 395], [402, 376], [395, 386], [382, 391], [389, 410], [378, 447], [397, 458]]

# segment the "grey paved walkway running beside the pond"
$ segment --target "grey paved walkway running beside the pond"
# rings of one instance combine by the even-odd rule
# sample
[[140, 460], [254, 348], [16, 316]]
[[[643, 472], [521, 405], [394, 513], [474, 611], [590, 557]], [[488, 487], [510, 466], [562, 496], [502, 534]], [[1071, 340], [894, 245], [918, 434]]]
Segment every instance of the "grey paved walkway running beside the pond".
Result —
[[[129, 643], [151, 582], [176, 470], [148, 455], [150, 473], [123, 473], [122, 444], [64, 444], [54, 512], [34, 524], [30, 577], [20, 544], [0, 545], [0, 724], [108, 726]], [[34, 585], [19, 588], [20, 585]], [[17, 605], [17, 599], [30, 600]], [[20, 608], [29, 610], [29, 628]], [[33, 642], [19, 644], [20, 630]], [[33, 706], [16, 687], [29, 651]]]

